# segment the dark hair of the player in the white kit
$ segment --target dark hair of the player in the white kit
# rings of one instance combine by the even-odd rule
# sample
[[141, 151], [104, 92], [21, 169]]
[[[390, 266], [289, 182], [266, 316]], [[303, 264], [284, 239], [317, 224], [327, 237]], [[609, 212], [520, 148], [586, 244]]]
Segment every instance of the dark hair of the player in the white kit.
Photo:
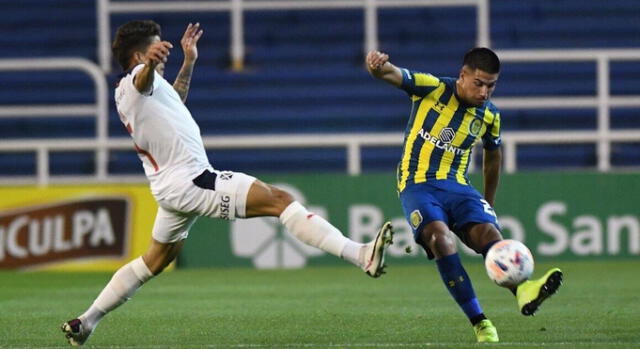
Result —
[[151, 20], [130, 21], [118, 28], [111, 51], [122, 70], [129, 69], [133, 53], [143, 51], [151, 45], [151, 40], [156, 35], [160, 36], [160, 25]]

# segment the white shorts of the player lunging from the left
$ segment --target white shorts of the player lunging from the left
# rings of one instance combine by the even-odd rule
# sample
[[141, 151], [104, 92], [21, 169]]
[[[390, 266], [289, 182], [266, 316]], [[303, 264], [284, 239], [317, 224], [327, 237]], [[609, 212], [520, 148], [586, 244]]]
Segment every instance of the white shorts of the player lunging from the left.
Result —
[[157, 199], [154, 240], [172, 243], [186, 239], [200, 216], [226, 220], [246, 216], [247, 195], [256, 178], [241, 172], [212, 172], [215, 173], [215, 184], [207, 183], [208, 188], [185, 180], [164, 198]]

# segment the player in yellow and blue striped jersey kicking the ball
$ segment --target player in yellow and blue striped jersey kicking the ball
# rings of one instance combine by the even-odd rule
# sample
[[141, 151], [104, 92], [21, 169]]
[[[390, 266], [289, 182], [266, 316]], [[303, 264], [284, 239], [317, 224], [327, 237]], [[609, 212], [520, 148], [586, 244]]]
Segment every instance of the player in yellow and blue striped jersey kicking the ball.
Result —
[[[367, 55], [369, 73], [403, 89], [411, 98], [398, 165], [398, 192], [416, 242], [436, 264], [445, 287], [469, 318], [478, 342], [497, 342], [460, 262], [455, 233], [486, 257], [502, 240], [493, 210], [500, 176], [500, 112], [489, 98], [496, 88], [500, 60], [488, 48], [464, 56], [458, 78], [435, 77], [396, 67], [379, 51]], [[473, 145], [484, 145], [484, 196], [469, 183], [467, 169]], [[533, 315], [562, 284], [562, 271], [513, 287], [520, 311]]]

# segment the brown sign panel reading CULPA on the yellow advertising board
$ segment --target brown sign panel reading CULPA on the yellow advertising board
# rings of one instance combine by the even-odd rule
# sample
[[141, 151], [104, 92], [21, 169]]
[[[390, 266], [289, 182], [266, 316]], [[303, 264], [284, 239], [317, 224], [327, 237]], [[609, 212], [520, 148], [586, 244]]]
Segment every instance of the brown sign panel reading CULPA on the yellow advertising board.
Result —
[[129, 202], [94, 197], [0, 215], [0, 269], [126, 253]]

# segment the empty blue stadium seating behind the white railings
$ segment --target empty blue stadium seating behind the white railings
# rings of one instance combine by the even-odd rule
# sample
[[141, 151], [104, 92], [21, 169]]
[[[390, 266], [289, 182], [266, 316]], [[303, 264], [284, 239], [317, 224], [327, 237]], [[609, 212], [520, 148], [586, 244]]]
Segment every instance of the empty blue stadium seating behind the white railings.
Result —
[[[95, 2], [24, 0], [3, 3], [0, 58], [76, 56], [96, 61]], [[498, 49], [640, 47], [639, 1], [537, 0], [492, 1], [491, 39]], [[166, 77], [172, 81], [182, 53], [178, 47], [188, 21], [199, 21], [205, 36], [187, 102], [206, 136], [269, 133], [400, 132], [409, 111], [406, 95], [373, 81], [363, 67], [363, 12], [349, 10], [248, 11], [245, 13], [245, 67], [230, 71], [228, 13], [149, 13], [111, 16], [112, 37], [118, 25], [151, 18], [162, 25], [163, 38], [176, 48]], [[381, 49], [399, 66], [456, 76], [462, 54], [475, 44], [472, 7], [381, 8]], [[588, 27], [589, 30], [584, 28]], [[113, 86], [117, 75], [108, 76]], [[595, 63], [504, 63], [496, 97], [585, 96], [596, 91]], [[611, 92], [640, 94], [640, 63], [611, 64]], [[76, 72], [0, 72], [0, 104], [94, 102], [91, 80]], [[109, 97], [109, 133], [127, 137]], [[499, 105], [498, 105], [499, 106]], [[614, 129], [640, 128], [638, 108], [615, 108]], [[594, 109], [504, 110], [504, 130], [588, 130], [597, 127]], [[92, 118], [0, 119], [2, 139], [90, 137]], [[397, 147], [365, 148], [363, 168], [393, 170]], [[592, 145], [522, 146], [521, 169], [595, 166]], [[613, 147], [612, 161], [640, 165], [637, 144]], [[256, 157], [256, 152], [260, 156]], [[221, 167], [247, 171], [345, 170], [344, 149], [216, 151]], [[279, 156], [293, 157], [286, 168]], [[75, 161], [79, 156], [81, 161]], [[34, 173], [34, 155], [0, 154], [5, 173]], [[77, 160], [77, 158], [76, 158]], [[93, 170], [91, 153], [55, 154], [58, 174]], [[111, 173], [140, 174], [133, 150], [110, 154]]]

